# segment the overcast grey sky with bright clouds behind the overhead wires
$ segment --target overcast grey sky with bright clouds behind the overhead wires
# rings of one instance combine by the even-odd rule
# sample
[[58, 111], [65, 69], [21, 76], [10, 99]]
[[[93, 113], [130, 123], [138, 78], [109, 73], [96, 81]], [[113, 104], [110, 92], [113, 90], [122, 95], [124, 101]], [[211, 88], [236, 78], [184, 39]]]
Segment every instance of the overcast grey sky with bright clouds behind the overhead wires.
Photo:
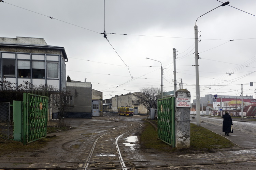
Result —
[[[38, 37], [64, 47], [69, 58], [66, 75], [75, 81], [87, 78], [93, 89], [103, 92], [103, 99], [160, 88], [161, 64], [163, 89], [173, 90], [175, 48], [177, 87], [182, 79], [193, 100], [195, 21], [222, 2], [105, 0], [104, 5], [104, 0], [4, 0], [0, 37]], [[239, 96], [243, 84], [243, 96], [255, 98], [256, 1], [229, 2], [197, 20], [200, 96]], [[104, 30], [109, 41], [101, 34]]]

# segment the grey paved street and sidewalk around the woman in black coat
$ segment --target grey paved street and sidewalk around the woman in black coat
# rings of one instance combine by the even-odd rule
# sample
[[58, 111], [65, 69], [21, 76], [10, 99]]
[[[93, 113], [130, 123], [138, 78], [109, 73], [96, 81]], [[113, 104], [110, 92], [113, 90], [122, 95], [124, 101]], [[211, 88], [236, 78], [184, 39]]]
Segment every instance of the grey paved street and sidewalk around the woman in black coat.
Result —
[[[191, 123], [196, 123], [196, 119], [191, 120]], [[222, 132], [222, 123], [222, 118], [201, 116], [202, 127], [226, 137], [240, 148], [256, 147], [256, 122], [233, 120], [234, 133], [230, 133], [229, 136], [225, 136]]]

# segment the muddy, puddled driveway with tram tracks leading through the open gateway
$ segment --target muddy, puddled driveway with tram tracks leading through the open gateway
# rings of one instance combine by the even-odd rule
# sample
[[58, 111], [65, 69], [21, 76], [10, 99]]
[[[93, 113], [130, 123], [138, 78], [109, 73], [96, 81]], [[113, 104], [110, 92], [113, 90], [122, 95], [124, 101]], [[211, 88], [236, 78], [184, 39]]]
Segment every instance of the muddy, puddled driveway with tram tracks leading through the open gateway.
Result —
[[0, 169], [254, 169], [255, 149], [193, 155], [140, 150], [137, 136], [146, 118], [104, 113], [69, 119], [74, 129], [49, 134], [56, 138], [37, 151], [2, 155]]

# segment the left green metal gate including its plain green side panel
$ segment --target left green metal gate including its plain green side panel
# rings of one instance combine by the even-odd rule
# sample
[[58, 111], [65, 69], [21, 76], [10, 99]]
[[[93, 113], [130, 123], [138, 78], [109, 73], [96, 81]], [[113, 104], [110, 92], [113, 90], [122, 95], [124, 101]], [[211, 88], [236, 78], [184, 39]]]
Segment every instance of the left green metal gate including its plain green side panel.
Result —
[[24, 145], [46, 137], [48, 97], [23, 94], [22, 101], [13, 101], [13, 137]]

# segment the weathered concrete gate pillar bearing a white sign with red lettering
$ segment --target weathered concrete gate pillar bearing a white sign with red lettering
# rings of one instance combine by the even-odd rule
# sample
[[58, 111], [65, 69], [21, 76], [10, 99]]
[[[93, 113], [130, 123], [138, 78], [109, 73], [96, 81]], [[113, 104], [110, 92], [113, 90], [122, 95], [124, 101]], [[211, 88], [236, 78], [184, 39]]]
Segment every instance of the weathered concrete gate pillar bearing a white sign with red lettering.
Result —
[[175, 147], [190, 147], [190, 92], [186, 89], [175, 93]]

